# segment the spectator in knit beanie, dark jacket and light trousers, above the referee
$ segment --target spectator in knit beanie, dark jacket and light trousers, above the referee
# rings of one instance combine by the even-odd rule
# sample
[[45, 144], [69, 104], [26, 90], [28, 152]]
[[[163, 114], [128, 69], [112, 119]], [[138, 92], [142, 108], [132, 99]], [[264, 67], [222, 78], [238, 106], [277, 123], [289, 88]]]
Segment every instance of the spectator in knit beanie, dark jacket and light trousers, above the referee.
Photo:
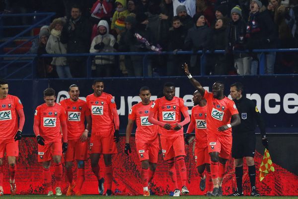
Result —
[[[231, 10], [231, 22], [228, 27], [228, 51], [241, 51], [246, 41], [246, 23], [242, 19], [242, 10], [236, 5]], [[233, 53], [234, 66], [239, 75], [250, 75], [251, 56], [248, 53]]]

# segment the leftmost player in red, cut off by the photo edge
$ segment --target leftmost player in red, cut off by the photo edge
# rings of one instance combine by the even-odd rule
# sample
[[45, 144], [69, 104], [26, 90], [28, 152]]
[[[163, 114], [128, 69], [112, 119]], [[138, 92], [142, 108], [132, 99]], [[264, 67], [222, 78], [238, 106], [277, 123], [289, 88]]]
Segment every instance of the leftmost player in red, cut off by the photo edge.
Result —
[[[19, 117], [19, 122], [18, 122]], [[22, 138], [25, 115], [21, 100], [8, 95], [8, 82], [0, 79], [0, 196], [3, 196], [3, 157], [7, 156], [11, 195], [16, 194], [14, 176], [18, 157], [18, 140]]]

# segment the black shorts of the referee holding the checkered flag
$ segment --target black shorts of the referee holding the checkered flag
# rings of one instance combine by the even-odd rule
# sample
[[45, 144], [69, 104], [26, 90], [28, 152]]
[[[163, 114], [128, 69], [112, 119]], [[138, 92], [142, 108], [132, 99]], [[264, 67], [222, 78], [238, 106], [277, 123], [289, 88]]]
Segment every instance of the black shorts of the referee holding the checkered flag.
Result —
[[256, 150], [256, 136], [254, 131], [233, 133], [232, 157], [241, 159], [243, 157], [254, 157]]

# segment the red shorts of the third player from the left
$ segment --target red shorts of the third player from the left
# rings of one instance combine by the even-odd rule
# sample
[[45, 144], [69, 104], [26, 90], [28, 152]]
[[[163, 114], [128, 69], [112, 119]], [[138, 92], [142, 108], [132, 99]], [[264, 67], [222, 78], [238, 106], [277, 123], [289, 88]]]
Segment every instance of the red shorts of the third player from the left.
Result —
[[65, 154], [65, 161], [71, 162], [74, 160], [87, 160], [88, 156], [88, 142], [81, 142], [80, 138], [76, 140], [69, 140], [68, 147]]

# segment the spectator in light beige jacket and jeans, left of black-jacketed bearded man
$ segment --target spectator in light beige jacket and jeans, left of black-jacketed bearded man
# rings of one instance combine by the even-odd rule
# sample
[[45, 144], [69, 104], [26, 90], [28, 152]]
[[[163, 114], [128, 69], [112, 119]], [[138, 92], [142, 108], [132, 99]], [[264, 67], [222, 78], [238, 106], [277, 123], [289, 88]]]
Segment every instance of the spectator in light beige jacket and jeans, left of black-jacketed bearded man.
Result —
[[[56, 18], [50, 25], [51, 35], [47, 42], [46, 51], [49, 54], [66, 54], [67, 45], [61, 43], [60, 36], [65, 24], [64, 18]], [[56, 66], [59, 78], [72, 78], [70, 67], [66, 57], [53, 57], [52, 65]]]

